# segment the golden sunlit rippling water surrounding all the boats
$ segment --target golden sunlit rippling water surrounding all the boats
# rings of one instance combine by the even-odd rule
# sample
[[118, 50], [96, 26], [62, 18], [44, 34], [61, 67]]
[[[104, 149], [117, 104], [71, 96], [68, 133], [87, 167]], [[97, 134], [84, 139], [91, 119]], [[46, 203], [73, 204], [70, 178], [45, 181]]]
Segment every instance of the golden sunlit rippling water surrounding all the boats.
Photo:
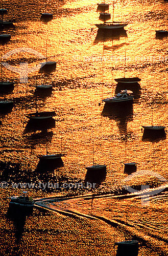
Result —
[[[97, 1], [4, 1], [15, 29], [1, 54], [25, 47], [57, 61], [56, 71], [29, 74], [20, 83], [19, 74], [3, 68], [3, 77], [15, 81], [12, 92], [1, 98], [13, 99], [12, 110], [1, 111], [1, 181], [84, 182], [86, 166], [94, 161], [107, 165], [107, 172], [92, 189], [27, 189], [34, 198], [94, 195], [88, 199], [47, 202], [52, 209], [71, 210], [94, 219], [68, 217], [34, 208], [33, 212], [8, 214], [9, 196], [22, 189], [1, 188], [1, 255], [115, 255], [114, 242], [135, 238], [139, 255], [167, 255], [167, 191], [150, 197], [128, 196], [123, 186], [157, 189], [167, 177], [167, 138], [145, 139], [141, 125], [168, 126], [167, 122], [167, 38], [156, 39], [155, 30], [166, 30], [167, 3], [163, 1], [117, 1], [114, 20], [128, 22], [121, 34], [98, 32]], [[54, 13], [49, 23], [40, 12]], [[112, 13], [112, 6], [110, 7]], [[46, 47], [47, 46], [47, 47]], [[133, 106], [108, 110], [102, 99], [122, 88], [114, 78], [138, 76], [141, 82], [129, 87]], [[10, 65], [29, 68], [44, 60], [31, 52], [14, 53]], [[51, 95], [35, 93], [32, 85], [52, 83]], [[40, 125], [28, 123], [27, 114], [56, 111], [55, 120]], [[37, 156], [66, 152], [63, 166], [45, 166]], [[62, 141], [62, 142], [61, 142]], [[125, 180], [125, 162], [136, 162], [139, 175]], [[160, 176], [159, 176], [160, 175]], [[110, 197], [99, 197], [97, 195]], [[115, 225], [114, 225], [115, 222]]]

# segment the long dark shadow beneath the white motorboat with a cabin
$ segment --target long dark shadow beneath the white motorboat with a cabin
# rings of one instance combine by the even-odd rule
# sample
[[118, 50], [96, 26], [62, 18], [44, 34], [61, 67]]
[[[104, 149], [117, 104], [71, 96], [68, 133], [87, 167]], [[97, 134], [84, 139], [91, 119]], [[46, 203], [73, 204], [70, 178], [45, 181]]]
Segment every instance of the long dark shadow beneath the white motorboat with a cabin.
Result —
[[105, 103], [101, 115], [108, 117], [110, 120], [115, 120], [119, 133], [126, 134], [127, 123], [133, 120], [133, 105], [131, 102]]

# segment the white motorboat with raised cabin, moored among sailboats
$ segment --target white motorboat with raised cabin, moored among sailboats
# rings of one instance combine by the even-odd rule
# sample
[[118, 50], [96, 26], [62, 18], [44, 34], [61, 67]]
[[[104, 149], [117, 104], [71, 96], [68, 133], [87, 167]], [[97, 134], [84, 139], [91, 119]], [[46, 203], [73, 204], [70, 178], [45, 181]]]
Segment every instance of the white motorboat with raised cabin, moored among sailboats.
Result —
[[132, 91], [122, 90], [121, 92], [117, 93], [115, 96], [107, 99], [103, 99], [102, 101], [105, 103], [133, 101], [134, 97], [132, 93], [133, 93]]

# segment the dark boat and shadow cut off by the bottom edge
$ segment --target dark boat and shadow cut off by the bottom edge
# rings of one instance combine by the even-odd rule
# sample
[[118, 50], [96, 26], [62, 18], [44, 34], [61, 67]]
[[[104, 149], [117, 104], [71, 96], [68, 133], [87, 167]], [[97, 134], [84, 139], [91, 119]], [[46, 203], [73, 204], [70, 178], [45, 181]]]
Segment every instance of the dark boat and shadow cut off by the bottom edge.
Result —
[[116, 242], [115, 245], [117, 245], [116, 256], [138, 256], [139, 244], [137, 240]]

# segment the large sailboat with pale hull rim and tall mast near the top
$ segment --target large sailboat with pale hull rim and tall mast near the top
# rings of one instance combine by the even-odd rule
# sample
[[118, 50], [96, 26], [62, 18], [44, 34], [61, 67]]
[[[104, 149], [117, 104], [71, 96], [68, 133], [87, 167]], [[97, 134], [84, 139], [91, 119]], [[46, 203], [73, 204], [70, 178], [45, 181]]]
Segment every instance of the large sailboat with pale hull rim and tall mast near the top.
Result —
[[[112, 23], [106, 22], [106, 20], [105, 20], [106, 15], [107, 14], [105, 14], [105, 11], [104, 11], [104, 20], [103, 20], [104, 23], [103, 24], [95, 24], [95, 26], [97, 26], [99, 29], [122, 29], [128, 25], [127, 23], [114, 22], [114, 3], [113, 3]], [[108, 13], [108, 15], [109, 15], [109, 13]], [[103, 16], [103, 14], [102, 14], [102, 16]]]

